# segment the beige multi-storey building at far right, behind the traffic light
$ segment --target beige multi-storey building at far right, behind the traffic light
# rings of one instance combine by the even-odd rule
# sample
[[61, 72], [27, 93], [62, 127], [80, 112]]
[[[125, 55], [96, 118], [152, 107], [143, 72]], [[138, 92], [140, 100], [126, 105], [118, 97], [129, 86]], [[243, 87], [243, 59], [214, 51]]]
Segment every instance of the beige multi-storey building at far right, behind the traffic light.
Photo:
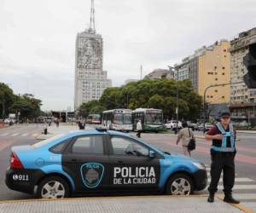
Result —
[[243, 76], [247, 72], [243, 57], [248, 52], [248, 45], [256, 38], [256, 28], [241, 32], [230, 42], [230, 110], [232, 118], [255, 124], [256, 89], [247, 89]]

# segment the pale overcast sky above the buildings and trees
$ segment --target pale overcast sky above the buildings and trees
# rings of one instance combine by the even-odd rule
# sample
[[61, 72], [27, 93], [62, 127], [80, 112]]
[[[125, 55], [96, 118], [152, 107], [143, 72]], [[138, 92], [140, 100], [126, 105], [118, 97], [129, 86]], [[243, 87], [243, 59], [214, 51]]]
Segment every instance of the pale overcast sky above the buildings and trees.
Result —
[[[95, 0], [103, 67], [113, 86], [256, 26], [254, 0]], [[0, 0], [0, 82], [44, 110], [73, 107], [75, 39], [90, 0]]]

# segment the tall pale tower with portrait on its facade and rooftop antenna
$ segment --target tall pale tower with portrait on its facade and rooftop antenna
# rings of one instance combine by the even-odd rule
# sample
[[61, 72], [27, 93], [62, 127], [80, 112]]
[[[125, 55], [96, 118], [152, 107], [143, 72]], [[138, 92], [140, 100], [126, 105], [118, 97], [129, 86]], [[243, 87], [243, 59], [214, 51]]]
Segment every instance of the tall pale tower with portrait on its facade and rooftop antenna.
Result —
[[75, 110], [83, 102], [99, 100], [104, 89], [111, 86], [107, 71], [102, 70], [103, 41], [95, 29], [94, 1], [91, 0], [90, 27], [76, 38]]

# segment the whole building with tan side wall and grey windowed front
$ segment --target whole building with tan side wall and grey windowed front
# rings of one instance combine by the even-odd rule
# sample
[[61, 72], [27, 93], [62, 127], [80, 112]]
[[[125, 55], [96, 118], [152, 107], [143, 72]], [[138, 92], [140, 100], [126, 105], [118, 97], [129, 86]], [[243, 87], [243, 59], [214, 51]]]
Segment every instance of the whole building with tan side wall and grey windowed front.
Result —
[[[230, 43], [226, 40], [216, 42], [195, 50], [194, 55], [184, 58], [174, 66], [174, 78], [190, 79], [199, 95], [204, 95], [205, 89], [212, 84], [230, 83]], [[206, 102], [209, 104], [228, 104], [230, 102], [230, 87], [220, 86], [207, 89]]]

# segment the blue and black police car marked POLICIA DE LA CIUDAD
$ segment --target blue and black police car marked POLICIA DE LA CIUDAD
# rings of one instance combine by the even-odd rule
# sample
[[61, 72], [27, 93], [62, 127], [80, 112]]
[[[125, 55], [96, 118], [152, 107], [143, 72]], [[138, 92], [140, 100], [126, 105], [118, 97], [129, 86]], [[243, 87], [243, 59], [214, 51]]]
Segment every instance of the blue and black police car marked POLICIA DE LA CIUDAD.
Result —
[[12, 147], [10, 189], [61, 199], [76, 193], [193, 193], [207, 186], [205, 165], [162, 152], [125, 133], [86, 130]]

